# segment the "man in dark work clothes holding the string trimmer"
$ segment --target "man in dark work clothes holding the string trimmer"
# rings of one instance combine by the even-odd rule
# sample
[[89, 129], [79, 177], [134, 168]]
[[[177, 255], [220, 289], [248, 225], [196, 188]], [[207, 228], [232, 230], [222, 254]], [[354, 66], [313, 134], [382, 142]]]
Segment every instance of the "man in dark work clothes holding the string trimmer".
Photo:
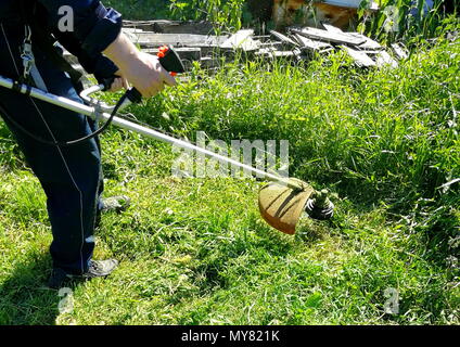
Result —
[[[72, 28], [62, 25], [63, 14], [73, 16], [66, 23]], [[156, 56], [140, 52], [122, 34], [122, 15], [98, 0], [0, 0], [0, 75], [81, 102], [75, 72], [59, 55], [56, 40], [98, 80], [117, 76], [112, 90], [130, 82], [149, 98], [176, 83]], [[47, 194], [53, 233], [49, 286], [110, 274], [116, 260], [92, 259], [93, 231], [104, 209], [99, 142], [56, 145], [92, 133], [93, 123], [2, 88], [0, 114]]]

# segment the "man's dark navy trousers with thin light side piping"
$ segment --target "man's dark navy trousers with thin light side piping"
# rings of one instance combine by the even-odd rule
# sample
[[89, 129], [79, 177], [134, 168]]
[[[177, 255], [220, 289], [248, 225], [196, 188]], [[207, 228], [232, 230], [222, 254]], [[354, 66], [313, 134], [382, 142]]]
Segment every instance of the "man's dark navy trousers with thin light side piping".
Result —
[[[24, 26], [0, 24], [0, 75], [17, 78], [23, 74], [20, 47]], [[55, 68], [37, 47], [37, 67], [48, 91], [81, 102], [66, 73]], [[0, 108], [15, 123], [41, 139], [69, 141], [92, 131], [93, 125], [76, 114], [0, 87]], [[75, 146], [55, 146], [25, 134], [3, 117], [26, 160], [47, 194], [52, 227], [50, 247], [53, 266], [68, 273], [88, 269], [94, 248], [94, 223], [102, 192], [101, 153], [97, 140]]]

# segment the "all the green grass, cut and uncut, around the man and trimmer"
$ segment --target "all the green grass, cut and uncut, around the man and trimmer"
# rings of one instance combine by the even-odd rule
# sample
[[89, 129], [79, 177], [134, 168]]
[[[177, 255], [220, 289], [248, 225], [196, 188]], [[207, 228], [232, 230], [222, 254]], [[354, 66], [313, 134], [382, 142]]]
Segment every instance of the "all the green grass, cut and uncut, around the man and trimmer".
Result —
[[[284, 235], [259, 217], [261, 183], [171, 178], [168, 145], [113, 128], [106, 194], [133, 204], [104, 216], [95, 257], [120, 267], [74, 283], [71, 313], [44, 288], [46, 197], [0, 124], [0, 323], [459, 324], [459, 183], [440, 188], [460, 177], [459, 56], [440, 39], [395, 69], [340, 53], [229, 65], [133, 107], [191, 139], [289, 140], [291, 175], [329, 188], [336, 215]], [[397, 314], [384, 312], [392, 287]]]

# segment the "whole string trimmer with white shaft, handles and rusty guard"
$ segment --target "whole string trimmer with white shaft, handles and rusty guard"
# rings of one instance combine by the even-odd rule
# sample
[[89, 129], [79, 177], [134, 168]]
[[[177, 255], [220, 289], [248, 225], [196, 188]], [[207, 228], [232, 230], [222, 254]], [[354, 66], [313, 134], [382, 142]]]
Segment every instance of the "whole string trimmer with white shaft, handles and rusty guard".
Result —
[[[163, 47], [158, 53], [159, 62], [163, 67], [171, 74], [184, 72], [182, 62], [171, 47]], [[258, 205], [261, 217], [273, 228], [294, 234], [295, 227], [304, 211], [315, 219], [329, 219], [333, 215], [333, 204], [327, 196], [327, 191], [317, 192], [308, 183], [295, 178], [283, 178], [277, 175], [256, 169], [250, 165], [219, 155], [215, 152], [191, 144], [188, 141], [174, 138], [146, 126], [136, 124], [116, 114], [131, 103], [139, 103], [142, 100], [141, 94], [135, 88], [128, 90], [115, 106], [108, 106], [100, 101], [90, 98], [91, 94], [106, 90], [112, 81], [106, 81], [99, 86], [90, 87], [81, 92], [81, 99], [86, 104], [73, 100], [50, 94], [40, 89], [14, 81], [0, 76], [0, 86], [15, 90], [16, 92], [30, 95], [38, 100], [64, 107], [66, 110], [84, 114], [92, 119], [104, 119], [105, 124], [94, 133], [84, 139], [67, 141], [65, 143], [51, 142], [54, 145], [73, 145], [101, 133], [110, 124], [119, 128], [131, 130], [145, 137], [167, 142], [182, 149], [196, 151], [208, 157], [218, 159], [220, 163], [230, 164], [242, 168], [259, 178], [271, 181], [259, 191]], [[4, 115], [5, 116], [5, 115]], [[10, 117], [9, 117], [10, 119]]]

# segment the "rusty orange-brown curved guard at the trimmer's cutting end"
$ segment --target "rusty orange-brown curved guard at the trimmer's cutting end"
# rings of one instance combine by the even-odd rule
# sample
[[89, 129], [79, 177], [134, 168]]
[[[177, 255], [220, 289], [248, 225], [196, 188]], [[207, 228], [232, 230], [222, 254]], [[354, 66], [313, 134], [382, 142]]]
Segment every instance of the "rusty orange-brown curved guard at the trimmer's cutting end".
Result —
[[290, 181], [297, 183], [302, 189], [293, 189], [278, 182], [270, 182], [261, 188], [259, 210], [267, 223], [292, 235], [295, 233], [295, 226], [315, 190], [298, 179], [291, 178]]

